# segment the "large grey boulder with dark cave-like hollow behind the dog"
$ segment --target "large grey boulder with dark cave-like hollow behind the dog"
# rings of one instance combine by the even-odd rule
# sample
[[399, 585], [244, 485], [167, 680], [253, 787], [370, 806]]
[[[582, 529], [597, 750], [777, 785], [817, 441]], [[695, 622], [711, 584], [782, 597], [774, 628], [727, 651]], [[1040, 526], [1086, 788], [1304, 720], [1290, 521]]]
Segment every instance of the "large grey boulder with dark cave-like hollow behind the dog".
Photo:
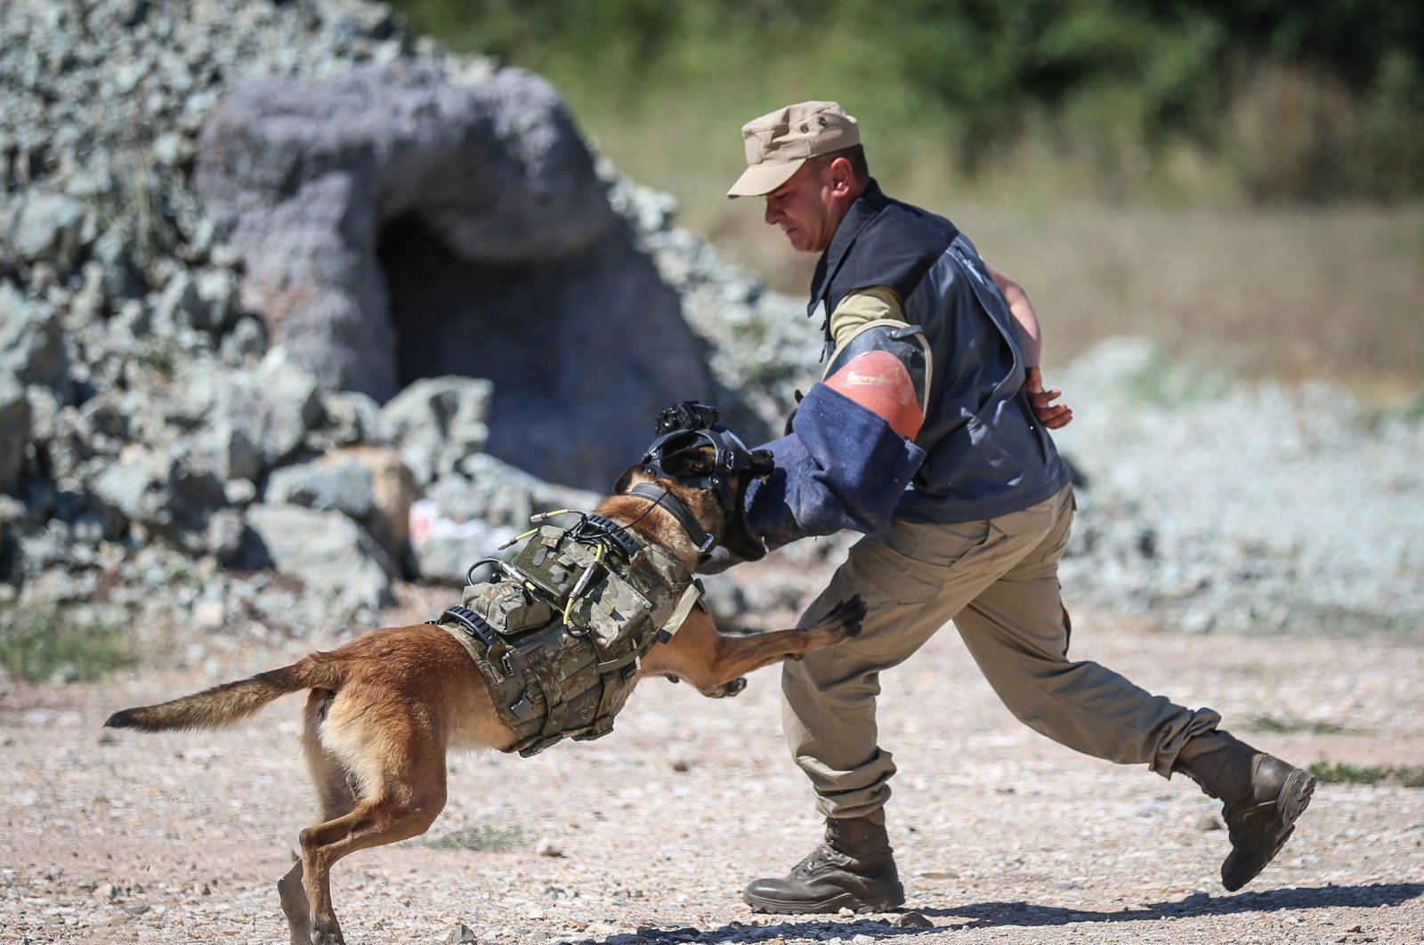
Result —
[[588, 488], [637, 458], [661, 407], [712, 390], [676, 292], [537, 75], [249, 80], [197, 162], [245, 262], [242, 306], [326, 390], [488, 379], [487, 450]]

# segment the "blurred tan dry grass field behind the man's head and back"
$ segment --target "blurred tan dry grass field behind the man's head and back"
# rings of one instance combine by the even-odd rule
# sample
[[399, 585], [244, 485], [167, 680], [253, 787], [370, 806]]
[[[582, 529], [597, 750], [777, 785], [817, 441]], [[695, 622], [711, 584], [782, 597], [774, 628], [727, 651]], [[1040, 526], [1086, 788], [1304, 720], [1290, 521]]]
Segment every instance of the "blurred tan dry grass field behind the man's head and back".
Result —
[[[1424, 206], [1163, 209], [926, 201], [1028, 289], [1047, 357], [1149, 334], [1239, 377], [1341, 381], [1397, 401], [1424, 390]], [[812, 259], [760, 205], [689, 208], [688, 225], [800, 295]]]

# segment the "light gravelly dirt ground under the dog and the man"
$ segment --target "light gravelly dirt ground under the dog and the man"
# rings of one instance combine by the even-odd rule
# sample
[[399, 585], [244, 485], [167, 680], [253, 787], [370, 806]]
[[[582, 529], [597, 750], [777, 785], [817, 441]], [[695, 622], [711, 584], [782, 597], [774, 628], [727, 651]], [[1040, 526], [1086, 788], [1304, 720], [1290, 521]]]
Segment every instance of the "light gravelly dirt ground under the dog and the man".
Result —
[[[1212, 704], [1292, 760], [1424, 764], [1421, 648], [1077, 623], [1078, 658]], [[272, 887], [310, 810], [298, 700], [224, 734], [100, 729], [209, 682], [0, 695], [0, 941], [286, 941]], [[1424, 941], [1424, 790], [1321, 786], [1277, 861], [1227, 895], [1215, 804], [1020, 726], [953, 633], [887, 680], [881, 709], [907, 911], [753, 915], [742, 884], [785, 871], [819, 828], [776, 687], [762, 670], [708, 702], [655, 680], [601, 741], [453, 759], [427, 837], [337, 867], [349, 941]], [[490, 845], [508, 848], [467, 848]]]

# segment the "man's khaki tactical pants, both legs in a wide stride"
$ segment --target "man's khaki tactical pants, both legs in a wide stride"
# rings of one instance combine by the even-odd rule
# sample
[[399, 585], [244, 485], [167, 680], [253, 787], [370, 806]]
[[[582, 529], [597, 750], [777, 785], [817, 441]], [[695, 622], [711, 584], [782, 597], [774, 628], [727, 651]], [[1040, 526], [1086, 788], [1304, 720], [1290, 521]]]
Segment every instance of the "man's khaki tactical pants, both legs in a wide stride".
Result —
[[1021, 722], [1087, 754], [1145, 763], [1163, 777], [1182, 744], [1220, 717], [1153, 696], [1098, 663], [1068, 659], [1058, 559], [1072, 487], [988, 521], [896, 521], [857, 542], [802, 625], [854, 593], [870, 611], [860, 636], [785, 663], [783, 726], [826, 817], [860, 817], [890, 797], [896, 767], [876, 744], [880, 673], [950, 621], [984, 677]]

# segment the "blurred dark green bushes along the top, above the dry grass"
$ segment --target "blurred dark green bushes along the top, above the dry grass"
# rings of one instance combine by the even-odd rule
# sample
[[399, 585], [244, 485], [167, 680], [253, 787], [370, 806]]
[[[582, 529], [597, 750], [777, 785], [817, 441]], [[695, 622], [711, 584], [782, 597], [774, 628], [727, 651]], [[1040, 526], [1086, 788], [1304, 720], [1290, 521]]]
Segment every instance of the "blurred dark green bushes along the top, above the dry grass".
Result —
[[[797, 98], [873, 115], [975, 175], [1027, 147], [1163, 171], [1183, 148], [1250, 201], [1424, 192], [1424, 4], [1398, 0], [394, 0], [449, 46], [551, 78], [615, 159], [740, 158]], [[731, 138], [731, 141], [729, 141]], [[918, 151], [920, 155], [926, 149]], [[884, 152], [876, 151], [884, 167]], [[625, 155], [631, 155], [625, 157]], [[648, 169], [628, 167], [644, 155]], [[887, 155], [889, 157], [889, 155]], [[709, 176], [712, 171], [708, 171]]]

